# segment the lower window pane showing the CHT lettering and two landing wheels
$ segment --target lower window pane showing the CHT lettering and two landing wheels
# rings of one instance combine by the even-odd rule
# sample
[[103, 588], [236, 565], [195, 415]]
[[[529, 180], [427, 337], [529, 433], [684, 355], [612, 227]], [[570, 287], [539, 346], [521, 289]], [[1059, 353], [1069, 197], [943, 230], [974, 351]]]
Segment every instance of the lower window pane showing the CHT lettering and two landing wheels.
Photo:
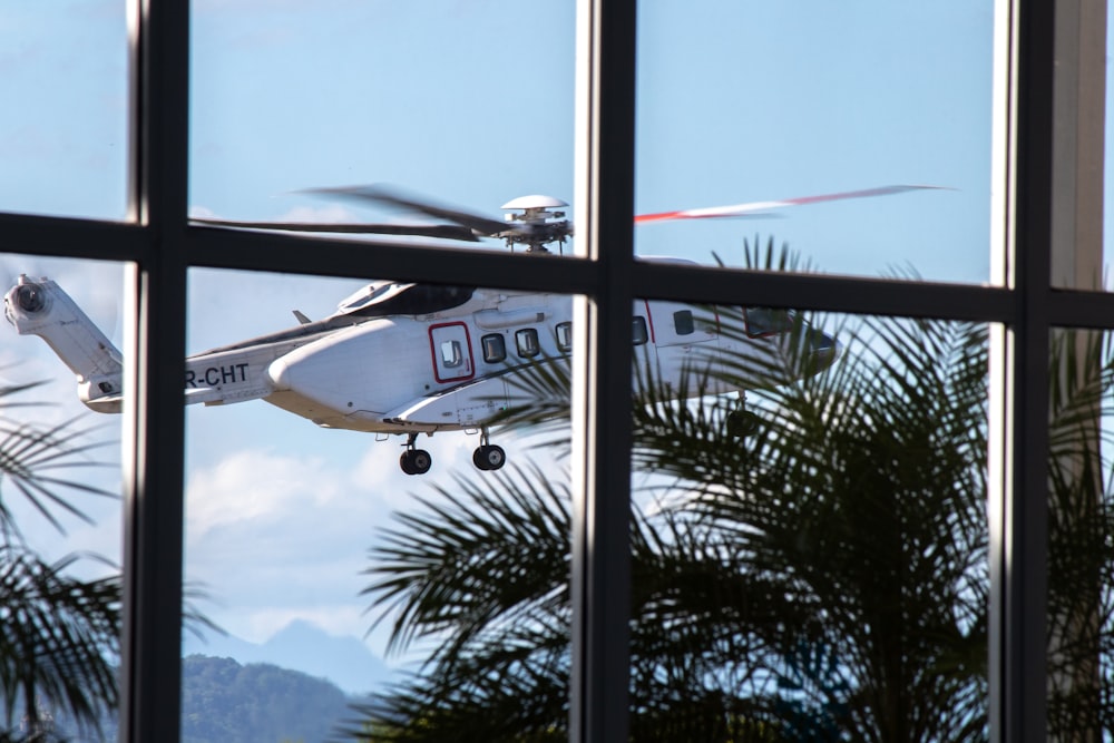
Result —
[[[537, 730], [502, 706], [519, 693], [515, 669], [544, 676], [545, 725], [564, 729], [569, 377], [557, 325], [570, 307], [190, 272], [186, 394], [207, 404], [187, 408], [185, 574], [227, 634], [185, 636], [184, 740], [217, 723], [222, 740], [323, 740], [342, 721], [508, 740], [500, 731]], [[515, 351], [524, 330], [536, 331], [530, 360]], [[506, 355], [486, 359], [492, 345]]]

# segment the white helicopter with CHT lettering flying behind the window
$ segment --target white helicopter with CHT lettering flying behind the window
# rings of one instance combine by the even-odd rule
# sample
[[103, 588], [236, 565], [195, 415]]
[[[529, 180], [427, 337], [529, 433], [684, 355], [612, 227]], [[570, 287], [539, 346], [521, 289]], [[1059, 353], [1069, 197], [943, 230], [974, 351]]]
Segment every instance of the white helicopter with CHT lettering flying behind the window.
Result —
[[[823, 201], [896, 194], [925, 186], [885, 186], [780, 202], [648, 214], [636, 222], [761, 215]], [[564, 244], [571, 225], [548, 196], [504, 205], [500, 222], [401, 197], [381, 187], [320, 189], [336, 197], [387, 204], [447, 222], [432, 225], [260, 223], [195, 219], [206, 225], [421, 235], [477, 241], [498, 237], [514, 250], [549, 252]], [[123, 356], [80, 307], [49, 278], [21, 275], [4, 295], [4, 314], [20, 334], [42, 338], [77, 375], [78, 397], [97, 412], [120, 411]], [[529, 404], [517, 384], [522, 370], [567, 356], [571, 349], [571, 301], [567, 296], [472, 286], [372, 282], [344, 299], [336, 312], [311, 321], [294, 311], [287, 330], [212, 349], [186, 359], [185, 402], [206, 405], [264, 400], [324, 428], [405, 437], [400, 458], [407, 475], [429, 471], [432, 459], [418, 436], [438, 431], [480, 434], [472, 461], [497, 470], [506, 453], [490, 441], [490, 427], [506, 411]], [[741, 332], [725, 325], [735, 319]], [[638, 301], [632, 340], [636, 358], [656, 365], [676, 399], [745, 390], [710, 373], [723, 359], [770, 354], [779, 338], [803, 321], [765, 307], [709, 307]], [[807, 371], [829, 366], [836, 339], [810, 330]], [[701, 373], [698, 389], [685, 380]], [[747, 427], [745, 410], [727, 416], [735, 434]]]

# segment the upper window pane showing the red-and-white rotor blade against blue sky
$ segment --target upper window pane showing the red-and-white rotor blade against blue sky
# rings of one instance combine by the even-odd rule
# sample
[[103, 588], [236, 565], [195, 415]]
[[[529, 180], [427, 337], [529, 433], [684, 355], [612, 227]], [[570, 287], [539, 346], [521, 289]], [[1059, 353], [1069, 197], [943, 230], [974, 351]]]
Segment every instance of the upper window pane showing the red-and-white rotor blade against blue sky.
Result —
[[964, 0], [639, 3], [637, 254], [743, 266], [745, 244], [786, 243], [790, 268], [997, 281], [995, 20]]

